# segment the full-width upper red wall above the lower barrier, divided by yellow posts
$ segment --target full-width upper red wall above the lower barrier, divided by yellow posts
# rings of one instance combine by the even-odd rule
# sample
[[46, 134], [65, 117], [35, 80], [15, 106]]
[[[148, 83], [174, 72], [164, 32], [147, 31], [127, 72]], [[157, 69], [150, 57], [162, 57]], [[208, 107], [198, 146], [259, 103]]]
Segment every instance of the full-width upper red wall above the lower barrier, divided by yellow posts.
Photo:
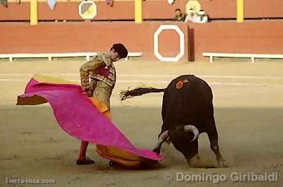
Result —
[[[236, 19], [237, 0], [199, 0], [202, 9], [211, 19]], [[165, 0], [143, 1], [144, 19], [172, 19], [176, 8], [185, 11], [187, 0], [178, 0], [170, 5]], [[51, 11], [47, 3], [39, 2], [39, 20], [81, 20], [79, 2], [57, 2]], [[94, 20], [134, 20], [134, 1], [114, 1], [108, 6], [105, 1], [96, 2], [98, 15]], [[29, 3], [9, 3], [8, 8], [0, 6], [0, 20], [29, 20]], [[283, 18], [282, 0], [246, 0], [245, 18]]]

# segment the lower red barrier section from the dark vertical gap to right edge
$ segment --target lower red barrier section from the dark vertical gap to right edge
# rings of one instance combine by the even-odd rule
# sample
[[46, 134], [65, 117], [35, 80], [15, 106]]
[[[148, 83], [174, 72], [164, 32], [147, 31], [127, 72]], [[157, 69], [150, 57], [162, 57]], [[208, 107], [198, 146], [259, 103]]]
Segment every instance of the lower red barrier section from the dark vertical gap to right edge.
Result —
[[191, 60], [204, 52], [283, 54], [283, 21], [189, 24]]

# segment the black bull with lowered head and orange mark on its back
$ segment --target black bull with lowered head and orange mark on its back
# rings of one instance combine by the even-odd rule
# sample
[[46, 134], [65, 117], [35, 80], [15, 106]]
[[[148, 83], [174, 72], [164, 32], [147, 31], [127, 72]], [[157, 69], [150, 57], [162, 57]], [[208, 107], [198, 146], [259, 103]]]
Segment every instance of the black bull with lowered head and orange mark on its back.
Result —
[[162, 130], [154, 151], [159, 153], [164, 141], [171, 141], [192, 167], [209, 167], [198, 156], [198, 135], [206, 132], [220, 167], [226, 167], [218, 146], [218, 133], [213, 115], [213, 95], [209, 85], [193, 75], [178, 76], [164, 89], [136, 88], [121, 92], [127, 99], [150, 92], [164, 92]]

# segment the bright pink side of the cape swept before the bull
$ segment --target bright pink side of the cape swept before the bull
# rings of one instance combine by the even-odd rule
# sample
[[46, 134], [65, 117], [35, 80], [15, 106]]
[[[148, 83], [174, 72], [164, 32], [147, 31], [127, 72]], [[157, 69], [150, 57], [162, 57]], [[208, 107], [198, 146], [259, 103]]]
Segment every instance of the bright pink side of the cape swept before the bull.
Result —
[[49, 102], [62, 130], [77, 139], [103, 146], [115, 146], [150, 160], [162, 160], [162, 155], [133, 146], [88, 97], [82, 94], [80, 85], [39, 83], [32, 78], [27, 84], [25, 94], [18, 96], [18, 104], [31, 104], [29, 99], [34, 97], [37, 97], [38, 102], [33, 104]]

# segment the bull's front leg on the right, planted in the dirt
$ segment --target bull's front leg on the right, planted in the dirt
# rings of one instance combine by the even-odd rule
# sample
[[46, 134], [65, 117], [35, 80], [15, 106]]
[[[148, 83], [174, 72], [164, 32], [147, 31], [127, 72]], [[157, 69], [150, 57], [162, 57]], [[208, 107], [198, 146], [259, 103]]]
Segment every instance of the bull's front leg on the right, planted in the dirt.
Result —
[[211, 120], [211, 124], [209, 124], [207, 134], [209, 135], [210, 147], [211, 147], [212, 151], [214, 152], [214, 154], [216, 155], [216, 159], [218, 161], [219, 166], [220, 167], [228, 167], [227, 162], [222, 157], [222, 155], [219, 151], [218, 133], [217, 133], [217, 130], [216, 130], [214, 118]]

